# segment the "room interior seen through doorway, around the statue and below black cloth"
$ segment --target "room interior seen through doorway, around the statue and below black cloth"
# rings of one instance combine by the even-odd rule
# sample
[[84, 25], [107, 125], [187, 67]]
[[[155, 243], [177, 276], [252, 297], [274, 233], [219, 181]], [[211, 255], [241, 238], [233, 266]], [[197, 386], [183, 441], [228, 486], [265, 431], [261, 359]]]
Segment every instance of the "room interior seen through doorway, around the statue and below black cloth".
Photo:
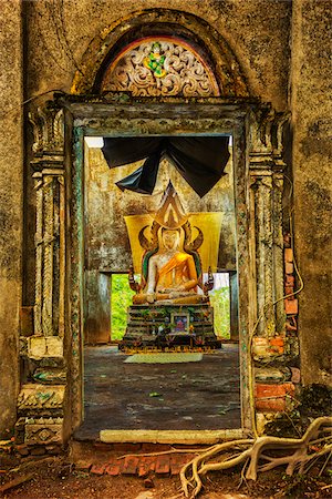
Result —
[[[102, 143], [102, 138], [85, 138], [85, 296], [89, 299], [85, 301], [84, 422], [76, 438], [97, 438], [104, 429], [238, 429], [241, 403], [231, 140], [226, 174], [203, 198], [167, 159], [160, 162], [152, 195], [120, 191], [115, 183], [137, 169], [139, 162], [110, 170]], [[210, 291], [214, 332], [222, 346], [203, 354], [196, 348], [195, 361], [174, 356], [169, 364], [136, 364], [116, 345], [126, 332], [127, 310], [134, 295], [128, 286], [131, 265], [135, 268], [136, 264], [136, 279], [141, 277], [137, 268], [142, 255], [135, 254], [133, 243], [137, 230], [135, 234], [131, 222], [134, 216], [156, 212], [169, 180], [196, 223], [206, 214], [206, 238], [209, 232], [214, 233], [205, 256], [214, 275]], [[217, 225], [212, 220], [217, 220]], [[208, 267], [204, 268], [204, 279], [207, 272]]]

